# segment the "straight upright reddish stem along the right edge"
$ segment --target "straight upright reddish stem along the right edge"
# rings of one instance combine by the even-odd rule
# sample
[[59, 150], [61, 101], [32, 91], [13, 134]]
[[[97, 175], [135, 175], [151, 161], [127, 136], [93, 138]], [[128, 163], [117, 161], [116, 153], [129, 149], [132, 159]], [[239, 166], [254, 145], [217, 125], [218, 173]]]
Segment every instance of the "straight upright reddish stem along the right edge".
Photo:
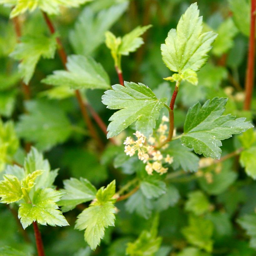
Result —
[[245, 100], [244, 110], [249, 110], [251, 106], [251, 100], [253, 95], [254, 86], [254, 65], [255, 65], [255, 5], [256, 0], [251, 0], [251, 26], [250, 26], [250, 38], [249, 49], [247, 59], [247, 70], [245, 78]]

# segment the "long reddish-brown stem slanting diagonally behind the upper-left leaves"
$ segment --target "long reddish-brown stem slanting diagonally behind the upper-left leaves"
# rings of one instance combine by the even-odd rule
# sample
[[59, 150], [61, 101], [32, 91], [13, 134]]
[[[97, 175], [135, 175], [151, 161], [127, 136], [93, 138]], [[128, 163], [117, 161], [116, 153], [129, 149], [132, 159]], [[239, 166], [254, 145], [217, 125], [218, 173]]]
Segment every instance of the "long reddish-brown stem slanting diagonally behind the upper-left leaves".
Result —
[[[54, 28], [54, 26], [53, 26], [53, 24], [52, 24], [52, 21], [51, 21], [50, 18], [48, 17], [47, 13], [45, 13], [45, 12], [42, 12], [42, 13], [43, 13], [43, 17], [44, 17], [44, 19], [45, 19], [45, 22], [47, 23], [47, 26], [48, 26], [48, 28], [49, 28], [51, 34], [54, 34], [54, 33], [55, 33], [55, 28]], [[65, 52], [65, 50], [64, 50], [64, 48], [63, 48], [62, 42], [61, 42], [61, 40], [60, 40], [59, 37], [56, 37], [56, 42], [57, 42], [57, 44], [58, 44], [58, 46], [59, 46], [59, 47], [58, 47], [59, 56], [60, 56], [60, 58], [61, 58], [61, 60], [62, 60], [63, 66], [64, 66], [65, 69], [66, 69], [66, 62], [67, 62], [66, 52]], [[94, 129], [94, 127], [93, 127], [93, 125], [92, 125], [92, 122], [91, 122], [91, 118], [90, 118], [90, 116], [88, 115], [87, 107], [89, 106], [89, 104], [85, 104], [85, 103], [83, 102], [83, 99], [82, 99], [82, 96], [81, 96], [81, 93], [80, 93], [79, 90], [75, 90], [75, 93], [76, 93], [77, 101], [78, 101], [79, 106], [80, 106], [80, 110], [81, 110], [82, 115], [83, 115], [83, 119], [84, 119], [84, 121], [85, 121], [85, 123], [86, 123], [86, 125], [87, 125], [87, 127], [88, 127], [88, 129], [89, 129], [89, 131], [90, 131], [90, 134], [91, 134], [91, 136], [97, 141], [97, 143], [98, 143], [98, 145], [99, 145], [99, 148], [100, 148], [100, 149], [103, 149], [104, 146], [103, 146], [103, 144], [102, 144], [102, 142], [101, 142], [101, 139], [100, 139], [100, 137], [98, 136], [96, 130]], [[92, 109], [91, 106], [90, 106], [90, 109]], [[94, 111], [94, 112], [95, 112], [95, 111]], [[98, 116], [98, 118], [100, 118], [100, 117]], [[101, 121], [102, 121], [102, 120], [101, 120]], [[103, 121], [102, 121], [102, 122], [103, 122]]]

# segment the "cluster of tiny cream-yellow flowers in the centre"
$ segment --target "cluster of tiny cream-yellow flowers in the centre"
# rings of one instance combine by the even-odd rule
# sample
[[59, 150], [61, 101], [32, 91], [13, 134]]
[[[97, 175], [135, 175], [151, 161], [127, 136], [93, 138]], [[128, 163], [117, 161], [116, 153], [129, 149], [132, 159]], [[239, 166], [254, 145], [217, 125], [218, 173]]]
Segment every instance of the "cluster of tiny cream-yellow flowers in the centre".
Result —
[[[165, 135], [168, 127], [164, 122], [168, 122], [169, 119], [166, 116], [162, 117], [162, 122], [156, 132], [156, 137], [146, 137], [136, 131], [134, 135], [136, 140], [133, 140], [130, 136], [124, 141], [125, 153], [126, 155], [133, 156], [137, 152], [138, 158], [146, 163], [145, 170], [149, 175], [152, 175], [153, 171], [160, 174], [167, 172], [168, 168], [163, 167], [163, 164], [171, 164], [173, 162], [173, 157], [166, 155], [165, 157], [161, 154], [159, 150], [155, 150], [155, 147], [160, 143], [163, 143], [167, 136]], [[149, 145], [150, 144], [150, 145]]]

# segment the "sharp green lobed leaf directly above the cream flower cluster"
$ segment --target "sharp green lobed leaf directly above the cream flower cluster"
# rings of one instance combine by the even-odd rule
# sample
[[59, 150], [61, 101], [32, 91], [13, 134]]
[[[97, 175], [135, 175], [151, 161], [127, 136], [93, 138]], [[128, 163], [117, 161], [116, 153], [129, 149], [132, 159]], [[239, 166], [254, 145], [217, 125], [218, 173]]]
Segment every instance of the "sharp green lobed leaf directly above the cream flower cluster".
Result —
[[102, 102], [107, 108], [121, 110], [110, 117], [107, 137], [119, 134], [134, 122], [136, 130], [145, 136], [152, 134], [166, 98], [158, 100], [150, 88], [141, 83], [125, 82], [125, 86], [117, 84], [112, 88], [105, 91]]

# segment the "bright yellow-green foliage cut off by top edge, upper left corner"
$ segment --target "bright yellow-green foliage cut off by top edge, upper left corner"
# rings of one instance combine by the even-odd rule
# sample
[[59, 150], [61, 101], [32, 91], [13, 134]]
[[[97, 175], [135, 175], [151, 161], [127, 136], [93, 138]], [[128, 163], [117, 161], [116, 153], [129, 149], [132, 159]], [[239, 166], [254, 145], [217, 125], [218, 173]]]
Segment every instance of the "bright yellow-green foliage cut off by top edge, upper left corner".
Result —
[[0, 0], [0, 4], [15, 5], [10, 14], [10, 18], [13, 18], [26, 11], [33, 12], [37, 8], [41, 9], [43, 12], [47, 12], [48, 14], [58, 14], [60, 6], [79, 7], [79, 5], [91, 1], [92, 0]]

